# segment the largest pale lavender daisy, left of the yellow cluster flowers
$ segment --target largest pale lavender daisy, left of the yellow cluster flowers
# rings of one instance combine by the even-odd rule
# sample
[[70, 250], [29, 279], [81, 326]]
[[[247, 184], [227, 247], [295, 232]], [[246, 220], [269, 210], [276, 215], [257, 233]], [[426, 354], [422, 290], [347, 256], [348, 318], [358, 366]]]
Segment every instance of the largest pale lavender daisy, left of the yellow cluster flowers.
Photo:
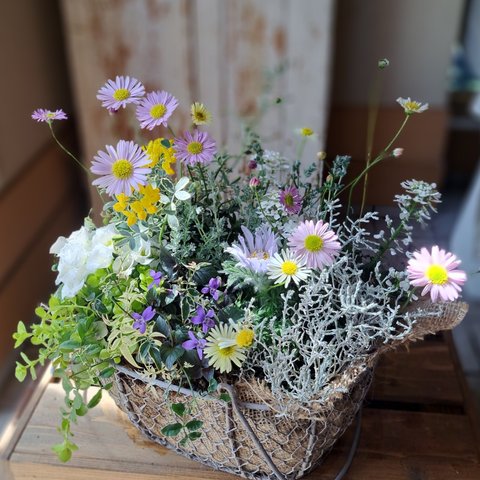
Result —
[[116, 148], [107, 145], [107, 153], [98, 151], [93, 158], [90, 170], [102, 175], [92, 184], [105, 188], [110, 196], [131, 195], [132, 189], [138, 190], [140, 185], [147, 183], [147, 174], [152, 169], [146, 165], [150, 159], [145, 152], [135, 143], [120, 140]]

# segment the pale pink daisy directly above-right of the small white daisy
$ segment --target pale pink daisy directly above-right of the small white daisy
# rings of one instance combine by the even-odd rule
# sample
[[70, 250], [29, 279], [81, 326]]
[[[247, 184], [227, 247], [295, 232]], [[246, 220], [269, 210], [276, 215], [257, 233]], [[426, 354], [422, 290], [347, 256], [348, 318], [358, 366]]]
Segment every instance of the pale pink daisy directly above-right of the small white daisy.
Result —
[[341, 249], [337, 235], [329, 230], [328, 223], [321, 220], [300, 223], [288, 240], [288, 245], [297, 255], [305, 257], [307, 267], [317, 269], [331, 265]]

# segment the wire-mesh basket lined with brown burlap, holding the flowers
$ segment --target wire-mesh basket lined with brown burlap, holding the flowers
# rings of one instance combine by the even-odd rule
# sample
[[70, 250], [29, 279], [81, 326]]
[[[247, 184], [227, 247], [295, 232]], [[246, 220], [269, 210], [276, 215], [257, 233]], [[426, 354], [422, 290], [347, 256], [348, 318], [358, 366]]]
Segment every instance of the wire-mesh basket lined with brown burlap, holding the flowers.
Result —
[[[437, 309], [439, 307], [436, 307]], [[423, 338], [451, 329], [467, 312], [464, 303], [444, 304], [435, 315], [425, 316], [401, 342], [382, 345], [350, 365], [320, 404], [296, 405], [285, 412], [281, 399], [257, 379], [242, 379], [234, 385], [220, 384], [231, 401], [192, 393], [191, 390], [155, 380], [145, 381], [125, 367], [117, 367], [111, 395], [131, 422], [150, 440], [217, 470], [250, 479], [301, 478], [314, 469], [351, 424], [370, 386], [378, 356]], [[201, 437], [180, 445], [181, 436], [165, 437], [161, 430], [178, 421], [171, 403], [188, 402], [186, 419], [201, 420]], [[291, 405], [291, 403], [289, 404]]]

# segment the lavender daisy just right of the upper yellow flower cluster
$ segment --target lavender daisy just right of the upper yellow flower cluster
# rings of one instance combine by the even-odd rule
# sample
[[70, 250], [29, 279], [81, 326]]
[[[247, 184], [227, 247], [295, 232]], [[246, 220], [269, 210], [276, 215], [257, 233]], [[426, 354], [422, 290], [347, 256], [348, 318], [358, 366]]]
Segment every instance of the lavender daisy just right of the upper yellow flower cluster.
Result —
[[215, 140], [206, 132], [195, 130], [193, 135], [185, 132], [183, 138], [176, 138], [173, 144], [177, 158], [187, 165], [207, 165], [217, 153]]

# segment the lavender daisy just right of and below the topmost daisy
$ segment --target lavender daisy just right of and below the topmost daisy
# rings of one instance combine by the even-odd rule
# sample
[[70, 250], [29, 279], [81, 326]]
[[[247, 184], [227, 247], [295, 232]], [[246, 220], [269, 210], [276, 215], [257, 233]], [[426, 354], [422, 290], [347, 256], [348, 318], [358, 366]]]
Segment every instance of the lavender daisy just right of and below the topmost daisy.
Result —
[[137, 119], [140, 128], [153, 130], [158, 125], [167, 126], [167, 120], [178, 106], [178, 100], [168, 92], [147, 93], [137, 107]]

